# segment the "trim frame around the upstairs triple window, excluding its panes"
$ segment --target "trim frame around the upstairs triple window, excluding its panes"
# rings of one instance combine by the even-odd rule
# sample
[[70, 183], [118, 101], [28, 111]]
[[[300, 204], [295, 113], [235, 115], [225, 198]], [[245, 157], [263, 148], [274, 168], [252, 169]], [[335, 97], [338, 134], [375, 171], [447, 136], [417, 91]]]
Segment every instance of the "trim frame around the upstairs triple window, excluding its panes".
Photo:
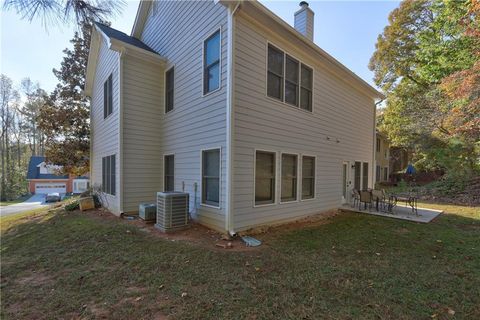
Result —
[[[275, 47], [276, 49], [280, 50], [283, 52], [283, 97], [282, 99], [276, 99], [276, 98], [273, 98], [273, 97], [270, 97], [268, 96], [268, 46], [269, 45], [272, 45], [273, 47]], [[285, 102], [285, 55], [289, 55], [290, 57], [294, 58], [295, 60], [297, 60], [299, 62], [299, 65], [298, 65], [298, 76], [299, 76], [299, 83], [298, 83], [298, 107], [297, 106], [294, 106], [294, 105], [291, 105], [290, 103], [288, 102]], [[301, 69], [302, 69], [302, 64], [305, 65], [306, 67], [312, 69], [312, 110], [309, 111], [309, 110], [305, 110], [305, 109], [302, 109], [300, 108], [300, 89], [301, 89]], [[271, 101], [275, 101], [281, 105], [284, 105], [284, 106], [287, 106], [289, 108], [292, 108], [292, 109], [295, 109], [295, 110], [300, 110], [302, 112], [306, 112], [307, 114], [313, 114], [315, 112], [315, 68], [313, 68], [311, 65], [307, 64], [307, 63], [304, 63], [302, 59], [299, 59], [297, 56], [291, 54], [289, 51], [287, 50], [284, 50], [281, 46], [278, 46], [277, 44], [273, 43], [272, 41], [270, 40], [267, 40], [266, 41], [266, 46], [265, 46], [265, 97], [268, 99], [268, 100], [271, 100]]]

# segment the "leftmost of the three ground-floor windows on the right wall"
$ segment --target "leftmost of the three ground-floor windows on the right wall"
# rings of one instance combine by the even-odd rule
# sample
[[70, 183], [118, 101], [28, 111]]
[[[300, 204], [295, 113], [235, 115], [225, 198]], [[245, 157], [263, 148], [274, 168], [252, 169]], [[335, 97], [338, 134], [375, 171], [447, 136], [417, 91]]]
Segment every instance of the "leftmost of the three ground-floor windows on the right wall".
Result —
[[255, 205], [275, 202], [275, 153], [257, 151], [255, 154]]

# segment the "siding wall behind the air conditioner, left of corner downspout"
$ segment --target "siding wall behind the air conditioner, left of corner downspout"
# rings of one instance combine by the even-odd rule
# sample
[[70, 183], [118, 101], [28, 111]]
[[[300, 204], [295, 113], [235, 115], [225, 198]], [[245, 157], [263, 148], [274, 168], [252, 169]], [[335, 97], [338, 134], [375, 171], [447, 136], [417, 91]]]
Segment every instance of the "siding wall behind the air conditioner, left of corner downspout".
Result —
[[[203, 41], [218, 29], [221, 29], [220, 90], [203, 96]], [[181, 191], [184, 182], [185, 191], [190, 193], [191, 208], [196, 198], [199, 220], [219, 230], [225, 229], [226, 36], [227, 10], [221, 4], [156, 1], [141, 37], [167, 60], [165, 70], [175, 67], [174, 108], [162, 114], [158, 124], [159, 152], [175, 154], [175, 190]], [[163, 91], [161, 100], [163, 106]], [[200, 205], [201, 150], [212, 148], [221, 148], [220, 209]], [[162, 166], [163, 157], [159, 167]]]

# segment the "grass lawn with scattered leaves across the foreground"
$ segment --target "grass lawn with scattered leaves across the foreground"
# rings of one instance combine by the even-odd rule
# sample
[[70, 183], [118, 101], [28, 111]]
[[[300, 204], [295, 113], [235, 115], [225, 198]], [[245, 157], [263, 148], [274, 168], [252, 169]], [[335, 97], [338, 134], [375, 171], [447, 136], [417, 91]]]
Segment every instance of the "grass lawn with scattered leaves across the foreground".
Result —
[[480, 208], [422, 206], [449, 214], [341, 214], [247, 252], [81, 213], [2, 221], [1, 318], [480, 319]]

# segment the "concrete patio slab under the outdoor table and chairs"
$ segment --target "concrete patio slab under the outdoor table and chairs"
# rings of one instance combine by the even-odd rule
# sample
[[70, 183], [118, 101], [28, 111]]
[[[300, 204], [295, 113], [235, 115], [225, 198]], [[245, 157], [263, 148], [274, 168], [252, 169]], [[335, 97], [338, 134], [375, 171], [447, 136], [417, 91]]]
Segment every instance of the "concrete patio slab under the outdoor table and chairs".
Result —
[[439, 216], [443, 211], [441, 210], [434, 210], [428, 208], [418, 208], [417, 214], [412, 212], [411, 207], [407, 207], [404, 205], [397, 205], [392, 213], [376, 211], [375, 208], [370, 210], [363, 208], [360, 210], [358, 206], [353, 208], [351, 205], [344, 205], [342, 206], [341, 210], [348, 211], [348, 212], [357, 212], [357, 213], [366, 213], [375, 216], [387, 217], [387, 218], [394, 218], [394, 219], [401, 219], [401, 220], [408, 220], [413, 222], [420, 222], [420, 223], [429, 223], [437, 216]]

